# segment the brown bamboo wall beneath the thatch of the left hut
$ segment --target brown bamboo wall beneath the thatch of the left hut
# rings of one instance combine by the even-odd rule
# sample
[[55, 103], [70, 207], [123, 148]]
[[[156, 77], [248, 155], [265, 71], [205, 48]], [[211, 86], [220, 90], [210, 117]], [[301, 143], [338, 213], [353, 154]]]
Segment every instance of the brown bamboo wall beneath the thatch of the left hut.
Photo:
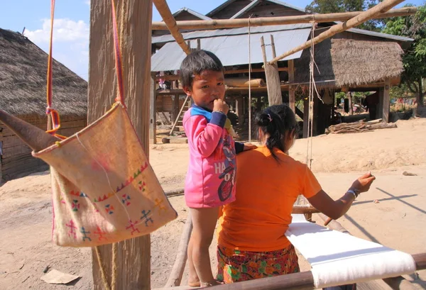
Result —
[[[24, 121], [46, 129], [47, 118], [40, 116], [19, 116]], [[87, 126], [86, 116], [62, 116], [60, 135], [70, 136]], [[48, 169], [42, 160], [31, 155], [31, 149], [24, 144], [9, 128], [0, 123], [2, 132], [0, 140], [3, 141], [3, 162], [0, 167], [0, 180], [8, 181], [25, 174], [40, 172]]]

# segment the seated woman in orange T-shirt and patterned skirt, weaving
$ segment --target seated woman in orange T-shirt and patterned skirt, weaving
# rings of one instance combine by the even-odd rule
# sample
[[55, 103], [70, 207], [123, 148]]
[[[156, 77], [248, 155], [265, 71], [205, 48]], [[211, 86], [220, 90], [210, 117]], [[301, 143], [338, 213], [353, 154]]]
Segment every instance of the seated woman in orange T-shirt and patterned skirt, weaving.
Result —
[[288, 155], [297, 133], [290, 107], [266, 108], [256, 123], [262, 145], [236, 158], [236, 201], [219, 218], [217, 279], [225, 283], [299, 272], [295, 248], [285, 237], [297, 196], [337, 219], [375, 179], [364, 174], [334, 201], [307, 165]]

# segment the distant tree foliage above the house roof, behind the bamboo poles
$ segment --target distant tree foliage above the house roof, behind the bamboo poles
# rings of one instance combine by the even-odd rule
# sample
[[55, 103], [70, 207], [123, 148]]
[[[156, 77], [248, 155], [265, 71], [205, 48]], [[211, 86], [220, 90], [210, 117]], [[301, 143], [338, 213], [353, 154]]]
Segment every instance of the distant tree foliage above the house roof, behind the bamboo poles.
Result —
[[[307, 13], [339, 13], [351, 11], [365, 11], [376, 6], [383, 0], [313, 0], [306, 6]], [[384, 25], [383, 19], [372, 19], [361, 24], [359, 28], [380, 31]]]

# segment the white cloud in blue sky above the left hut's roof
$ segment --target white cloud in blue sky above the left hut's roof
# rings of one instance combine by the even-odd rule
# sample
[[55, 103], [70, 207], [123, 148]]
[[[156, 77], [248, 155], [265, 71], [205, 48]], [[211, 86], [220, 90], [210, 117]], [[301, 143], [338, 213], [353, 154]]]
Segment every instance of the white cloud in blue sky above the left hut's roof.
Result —
[[[40, 29], [26, 30], [24, 35], [47, 52], [50, 40], [50, 20], [43, 19]], [[53, 57], [76, 74], [87, 79], [89, 66], [89, 26], [87, 23], [67, 18], [55, 19], [53, 43]]]

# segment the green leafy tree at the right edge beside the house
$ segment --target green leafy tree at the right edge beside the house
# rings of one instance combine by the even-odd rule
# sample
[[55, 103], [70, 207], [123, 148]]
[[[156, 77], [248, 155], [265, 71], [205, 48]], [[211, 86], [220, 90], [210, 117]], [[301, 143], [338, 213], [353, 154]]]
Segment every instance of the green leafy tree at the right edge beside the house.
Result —
[[426, 78], [426, 2], [418, 7], [413, 16], [392, 18], [382, 32], [414, 39], [403, 55], [404, 72], [401, 81], [417, 95], [417, 106], [422, 106], [426, 94], [423, 84]]

